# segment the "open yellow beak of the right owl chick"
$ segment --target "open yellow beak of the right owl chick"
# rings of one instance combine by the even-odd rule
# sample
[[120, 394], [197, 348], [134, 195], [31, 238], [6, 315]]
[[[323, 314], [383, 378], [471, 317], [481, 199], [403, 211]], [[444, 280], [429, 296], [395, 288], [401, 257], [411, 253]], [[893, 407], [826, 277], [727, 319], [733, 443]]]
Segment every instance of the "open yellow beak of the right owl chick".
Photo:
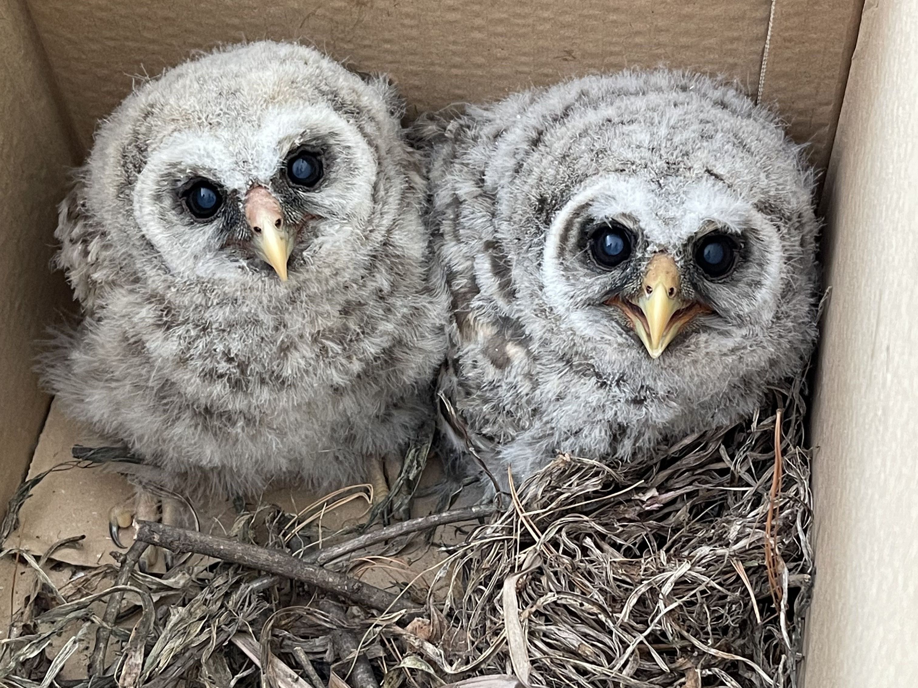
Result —
[[676, 261], [666, 253], [657, 253], [647, 265], [641, 294], [627, 301], [615, 297], [608, 303], [628, 316], [647, 353], [656, 359], [693, 317], [710, 312], [707, 306], [684, 301], [679, 294]]

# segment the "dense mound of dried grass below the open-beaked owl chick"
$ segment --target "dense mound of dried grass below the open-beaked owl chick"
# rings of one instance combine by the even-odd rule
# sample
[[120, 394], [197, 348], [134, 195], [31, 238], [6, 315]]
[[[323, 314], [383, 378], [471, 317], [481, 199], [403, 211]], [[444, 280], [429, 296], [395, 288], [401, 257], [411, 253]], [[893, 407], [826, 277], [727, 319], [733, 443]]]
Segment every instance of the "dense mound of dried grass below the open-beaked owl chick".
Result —
[[796, 685], [813, 569], [801, 415], [795, 396], [783, 461], [772, 413], [650, 461], [562, 456], [524, 483], [460, 551], [441, 608], [469, 663], [532, 685]]

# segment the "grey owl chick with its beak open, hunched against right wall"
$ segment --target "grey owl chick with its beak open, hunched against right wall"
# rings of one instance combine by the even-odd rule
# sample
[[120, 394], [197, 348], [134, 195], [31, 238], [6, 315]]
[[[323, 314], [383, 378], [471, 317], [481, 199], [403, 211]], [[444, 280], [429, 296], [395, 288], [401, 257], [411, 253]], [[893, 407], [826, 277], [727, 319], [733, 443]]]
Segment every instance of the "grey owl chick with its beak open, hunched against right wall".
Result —
[[421, 135], [453, 298], [445, 434], [502, 487], [556, 452], [627, 461], [732, 424], [804, 365], [812, 173], [732, 86], [591, 76]]

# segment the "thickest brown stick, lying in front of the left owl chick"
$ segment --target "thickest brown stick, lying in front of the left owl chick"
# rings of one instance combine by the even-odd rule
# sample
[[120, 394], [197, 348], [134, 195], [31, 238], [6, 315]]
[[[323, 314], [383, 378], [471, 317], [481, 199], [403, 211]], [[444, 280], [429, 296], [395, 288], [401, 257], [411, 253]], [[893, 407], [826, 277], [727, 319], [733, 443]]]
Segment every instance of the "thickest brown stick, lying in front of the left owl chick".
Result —
[[389, 609], [407, 609], [420, 612], [420, 607], [402, 600], [397, 595], [369, 585], [336, 571], [327, 571], [298, 560], [277, 549], [265, 549], [226, 538], [197, 533], [185, 528], [164, 526], [162, 523], [140, 521], [137, 539], [174, 552], [195, 552], [207, 557], [232, 561], [259, 571], [267, 571], [285, 578], [307, 583], [314, 588], [337, 594], [339, 597], [385, 612]]

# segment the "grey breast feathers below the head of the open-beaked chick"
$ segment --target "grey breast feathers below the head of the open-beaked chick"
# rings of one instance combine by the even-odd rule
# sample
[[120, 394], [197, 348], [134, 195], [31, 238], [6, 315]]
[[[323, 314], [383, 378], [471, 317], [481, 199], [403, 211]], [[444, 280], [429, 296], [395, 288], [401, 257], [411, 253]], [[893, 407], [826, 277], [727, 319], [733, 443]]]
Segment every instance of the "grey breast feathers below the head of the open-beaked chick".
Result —
[[[636, 336], [633, 346], [642, 346]], [[442, 423], [451, 427], [453, 443], [486, 461], [519, 449], [514, 444], [626, 459], [694, 432], [701, 422], [735, 422], [751, 413], [758, 396], [742, 377], [724, 377], [713, 394], [710, 384], [654, 372], [650, 364], [599, 360], [560, 323], [530, 328], [477, 302], [454, 312], [448, 358], [439, 387], [450, 413], [441, 408]]]

